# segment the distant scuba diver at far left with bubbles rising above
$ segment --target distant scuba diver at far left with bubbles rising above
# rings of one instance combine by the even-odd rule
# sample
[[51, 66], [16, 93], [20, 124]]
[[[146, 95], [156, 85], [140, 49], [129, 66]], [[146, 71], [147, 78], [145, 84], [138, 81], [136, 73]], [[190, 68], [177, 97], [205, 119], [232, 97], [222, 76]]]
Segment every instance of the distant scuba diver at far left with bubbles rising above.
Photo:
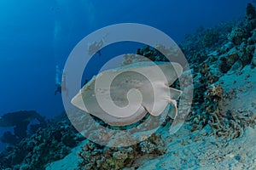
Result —
[[[61, 78], [62, 73], [62, 78]], [[56, 65], [56, 74], [55, 74], [55, 95], [60, 93], [61, 91], [67, 91], [66, 87], [66, 73], [64, 71], [60, 71], [59, 65]]]

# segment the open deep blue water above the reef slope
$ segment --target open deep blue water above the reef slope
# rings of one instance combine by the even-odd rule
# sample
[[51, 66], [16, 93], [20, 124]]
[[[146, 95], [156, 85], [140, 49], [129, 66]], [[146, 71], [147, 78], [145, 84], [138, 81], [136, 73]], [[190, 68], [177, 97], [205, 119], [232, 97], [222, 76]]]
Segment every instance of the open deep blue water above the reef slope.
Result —
[[[1, 0], [0, 2], [0, 115], [35, 110], [53, 117], [63, 111], [55, 95], [55, 65], [63, 68], [74, 46], [102, 26], [123, 22], [154, 26], [176, 42], [199, 26], [244, 16], [248, 0]], [[102, 57], [87, 73], [94, 74]], [[135, 51], [134, 51], [135, 52]], [[2, 127], [0, 130], [5, 130]]]

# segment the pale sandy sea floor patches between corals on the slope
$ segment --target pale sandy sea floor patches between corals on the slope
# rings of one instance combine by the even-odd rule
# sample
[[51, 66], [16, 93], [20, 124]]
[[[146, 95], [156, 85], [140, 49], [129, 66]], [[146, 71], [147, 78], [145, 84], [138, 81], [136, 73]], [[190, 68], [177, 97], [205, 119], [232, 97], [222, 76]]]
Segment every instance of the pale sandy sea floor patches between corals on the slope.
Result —
[[[246, 108], [255, 117], [255, 77], [256, 70], [250, 65], [244, 67], [239, 75], [221, 77], [218, 82], [223, 84], [224, 91], [236, 89], [236, 95], [226, 101], [223, 109]], [[164, 155], [154, 158], [150, 155], [141, 156], [125, 169], [256, 169], [256, 126], [246, 127], [239, 138], [227, 140], [225, 136], [217, 138], [210, 125], [191, 132], [191, 123], [184, 122], [175, 134], [170, 135], [165, 129], [162, 138], [166, 143]], [[82, 160], [77, 152], [86, 142], [81, 142], [64, 159], [50, 163], [46, 169], [79, 168], [79, 161]]]

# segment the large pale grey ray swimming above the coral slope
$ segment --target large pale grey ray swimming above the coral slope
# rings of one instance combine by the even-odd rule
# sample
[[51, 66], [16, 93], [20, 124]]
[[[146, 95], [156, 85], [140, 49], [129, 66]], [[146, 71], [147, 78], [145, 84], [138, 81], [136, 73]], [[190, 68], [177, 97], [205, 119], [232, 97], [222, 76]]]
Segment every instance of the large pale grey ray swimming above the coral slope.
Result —
[[71, 103], [111, 126], [127, 126], [149, 113], [160, 116], [166, 107], [172, 119], [182, 91], [170, 88], [181, 76], [178, 63], [143, 61], [103, 71], [79, 90]]

